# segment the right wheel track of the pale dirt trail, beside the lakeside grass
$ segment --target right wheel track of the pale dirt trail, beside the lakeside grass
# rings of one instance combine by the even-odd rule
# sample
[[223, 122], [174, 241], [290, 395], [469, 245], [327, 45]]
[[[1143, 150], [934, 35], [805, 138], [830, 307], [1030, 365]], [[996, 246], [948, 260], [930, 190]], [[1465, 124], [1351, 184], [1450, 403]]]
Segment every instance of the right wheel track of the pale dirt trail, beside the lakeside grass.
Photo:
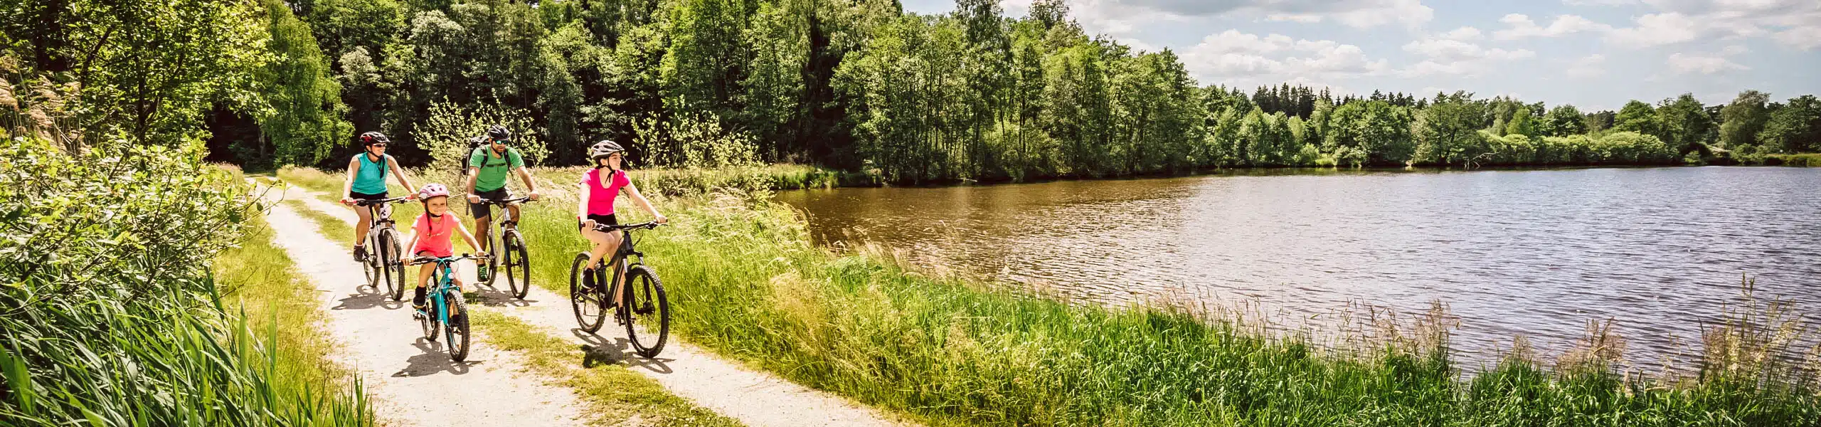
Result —
[[[299, 192], [299, 190], [293, 190]], [[310, 195], [299, 195], [306, 199], [311, 208], [322, 210], [324, 214], [341, 217], [342, 221], [355, 221], [351, 210], [317, 201]], [[313, 203], [311, 203], [313, 201]], [[401, 221], [404, 223], [404, 221]], [[279, 224], [273, 224], [279, 226]], [[313, 226], [304, 230], [315, 232]], [[577, 248], [581, 250], [581, 248]], [[339, 245], [330, 250], [330, 259], [344, 270], [348, 281], [361, 279], [361, 272], [353, 268], [353, 259], [346, 255], [346, 245]], [[568, 263], [568, 259], [532, 259], [534, 263]], [[470, 265], [459, 265], [457, 274], [473, 283], [473, 272]], [[659, 272], [659, 277], [663, 272]], [[504, 283], [495, 283], [504, 288]], [[351, 288], [348, 285], [346, 288]], [[716, 411], [723, 416], [739, 420], [741, 423], [752, 427], [805, 427], [805, 425], [856, 425], [856, 427], [887, 427], [887, 425], [910, 425], [907, 422], [894, 420], [896, 416], [887, 416], [881, 411], [854, 403], [850, 400], [812, 391], [809, 387], [790, 383], [770, 372], [761, 372], [747, 369], [739, 363], [721, 359], [703, 349], [683, 343], [676, 334], [665, 345], [663, 354], [656, 359], [646, 359], [632, 354], [630, 343], [626, 341], [625, 327], [603, 325], [599, 332], [588, 334], [575, 327], [575, 316], [568, 307], [568, 297], [555, 292], [544, 290], [541, 286], [532, 286], [523, 301], [506, 297], [504, 290], [477, 286], [483, 294], [484, 307], [492, 307], [506, 316], [519, 318], [543, 332], [570, 339], [577, 345], [586, 345], [594, 352], [606, 356], [617, 363], [625, 363], [634, 372], [645, 374], [657, 383], [670, 389], [670, 392], [696, 401], [705, 409]], [[386, 314], [404, 316], [402, 312], [386, 310]], [[390, 318], [388, 318], [390, 319]], [[415, 328], [413, 323], [399, 321], [399, 325]], [[488, 358], [492, 352], [477, 339], [477, 347], [470, 358]], [[393, 343], [397, 345], [397, 343]], [[415, 349], [413, 349], [415, 350]], [[443, 359], [446, 361], [446, 358]], [[466, 380], [466, 378], [464, 378]], [[543, 425], [543, 423], [524, 423], [524, 425]]]

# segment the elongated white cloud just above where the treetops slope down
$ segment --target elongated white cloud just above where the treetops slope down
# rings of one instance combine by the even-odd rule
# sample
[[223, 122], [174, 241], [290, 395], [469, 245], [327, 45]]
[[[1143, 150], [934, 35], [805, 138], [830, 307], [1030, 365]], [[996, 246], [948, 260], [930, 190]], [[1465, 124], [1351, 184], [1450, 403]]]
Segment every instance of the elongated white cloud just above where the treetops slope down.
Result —
[[1235, 29], [1209, 35], [1184, 49], [1182, 62], [1202, 82], [1236, 86], [1342, 80], [1388, 69], [1386, 60], [1366, 57], [1358, 46], [1284, 35], [1258, 36]]

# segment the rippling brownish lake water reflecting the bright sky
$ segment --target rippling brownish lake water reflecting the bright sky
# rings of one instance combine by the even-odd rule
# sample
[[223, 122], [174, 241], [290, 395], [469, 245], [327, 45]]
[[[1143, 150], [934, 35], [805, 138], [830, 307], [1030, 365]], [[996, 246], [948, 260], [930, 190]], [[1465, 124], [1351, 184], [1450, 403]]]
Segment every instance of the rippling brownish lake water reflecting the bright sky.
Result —
[[1191, 294], [1320, 314], [1369, 301], [1460, 316], [1468, 359], [1559, 350], [1617, 319], [1633, 361], [1699, 343], [1739, 296], [1821, 308], [1821, 170], [1601, 168], [1244, 173], [785, 192], [818, 239], [1118, 303]]

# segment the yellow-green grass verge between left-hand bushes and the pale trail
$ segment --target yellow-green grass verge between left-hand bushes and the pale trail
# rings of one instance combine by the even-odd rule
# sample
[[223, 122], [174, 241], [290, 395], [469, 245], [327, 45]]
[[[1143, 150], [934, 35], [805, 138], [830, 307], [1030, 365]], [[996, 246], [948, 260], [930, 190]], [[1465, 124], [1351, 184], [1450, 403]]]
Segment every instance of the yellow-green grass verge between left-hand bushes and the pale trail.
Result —
[[[273, 387], [280, 394], [326, 400], [337, 394], [361, 396], [357, 378], [330, 363], [333, 345], [317, 325], [320, 310], [308, 279], [284, 248], [273, 243], [271, 224], [264, 215], [249, 215], [240, 245], [215, 257], [213, 274], [229, 310], [239, 310], [259, 339], [273, 352]], [[337, 409], [319, 401], [317, 409]], [[362, 423], [371, 423], [371, 412], [351, 411]], [[319, 414], [328, 416], [328, 414]]]

